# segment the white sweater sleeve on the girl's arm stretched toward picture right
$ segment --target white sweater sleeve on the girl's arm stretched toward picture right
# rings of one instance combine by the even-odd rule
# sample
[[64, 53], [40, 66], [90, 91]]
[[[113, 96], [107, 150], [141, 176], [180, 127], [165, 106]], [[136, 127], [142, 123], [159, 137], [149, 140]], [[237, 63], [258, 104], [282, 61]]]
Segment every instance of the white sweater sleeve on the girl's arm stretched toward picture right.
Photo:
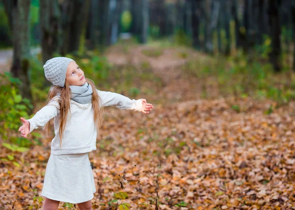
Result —
[[101, 91], [97, 90], [97, 93], [101, 99], [102, 106], [110, 106], [114, 105], [119, 109], [127, 109], [127, 110], [134, 110], [134, 111], [141, 111], [143, 108], [142, 101], [129, 99], [126, 96], [123, 96], [118, 93], [113, 93], [109, 91]]

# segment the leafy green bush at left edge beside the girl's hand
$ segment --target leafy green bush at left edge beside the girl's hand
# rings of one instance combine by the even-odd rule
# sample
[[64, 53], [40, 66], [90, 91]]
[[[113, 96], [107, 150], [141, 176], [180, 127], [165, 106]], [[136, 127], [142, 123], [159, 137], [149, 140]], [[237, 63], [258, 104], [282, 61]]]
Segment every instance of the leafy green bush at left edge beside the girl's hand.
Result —
[[25, 139], [18, 137], [20, 117], [29, 118], [28, 111], [33, 108], [30, 101], [19, 94], [20, 82], [11, 73], [0, 74], [0, 138], [11, 142]]

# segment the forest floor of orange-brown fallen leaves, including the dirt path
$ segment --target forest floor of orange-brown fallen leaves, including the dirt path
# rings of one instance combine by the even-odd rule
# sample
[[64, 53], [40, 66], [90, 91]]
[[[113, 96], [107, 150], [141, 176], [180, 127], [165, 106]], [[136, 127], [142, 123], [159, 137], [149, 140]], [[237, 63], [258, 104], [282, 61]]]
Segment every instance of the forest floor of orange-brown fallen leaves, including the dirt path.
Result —
[[[220, 97], [214, 85], [207, 86], [210, 98], [204, 99], [204, 81], [182, 67], [206, 55], [176, 48], [143, 53], [148, 51], [155, 50], [116, 45], [106, 53], [113, 65], [148, 69], [161, 85], [143, 83], [153, 90], [139, 94], [154, 105], [149, 114], [105, 108], [97, 150], [89, 153], [97, 189], [93, 209], [116, 209], [117, 203], [155, 209], [156, 198], [163, 210], [294, 208], [295, 103], [266, 114], [274, 102]], [[183, 51], [185, 58], [179, 56]], [[41, 209], [43, 201], [33, 197], [42, 191], [52, 137], [15, 155], [24, 160], [20, 168], [0, 162], [0, 209], [12, 203], [16, 210]], [[0, 154], [9, 151], [0, 148]], [[116, 192], [128, 197], [116, 201]], [[61, 202], [59, 209], [70, 206]]]

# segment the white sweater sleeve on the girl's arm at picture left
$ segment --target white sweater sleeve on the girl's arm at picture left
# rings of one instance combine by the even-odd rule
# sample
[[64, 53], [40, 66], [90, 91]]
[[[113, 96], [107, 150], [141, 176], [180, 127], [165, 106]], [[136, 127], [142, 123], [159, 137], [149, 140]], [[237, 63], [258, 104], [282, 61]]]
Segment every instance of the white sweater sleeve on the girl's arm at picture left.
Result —
[[30, 118], [29, 121], [29, 132], [45, 126], [45, 124], [52, 118], [59, 115], [59, 100], [58, 97], [53, 98], [48, 105], [45, 105], [36, 114]]

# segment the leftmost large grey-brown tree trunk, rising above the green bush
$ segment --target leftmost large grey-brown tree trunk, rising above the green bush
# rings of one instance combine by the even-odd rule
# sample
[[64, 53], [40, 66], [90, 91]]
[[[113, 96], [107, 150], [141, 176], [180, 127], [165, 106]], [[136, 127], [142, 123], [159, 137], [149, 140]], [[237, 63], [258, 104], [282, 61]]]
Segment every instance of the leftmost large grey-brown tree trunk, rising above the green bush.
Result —
[[29, 79], [29, 9], [30, 0], [2, 0], [12, 34], [11, 73], [21, 80], [20, 93], [32, 99]]

